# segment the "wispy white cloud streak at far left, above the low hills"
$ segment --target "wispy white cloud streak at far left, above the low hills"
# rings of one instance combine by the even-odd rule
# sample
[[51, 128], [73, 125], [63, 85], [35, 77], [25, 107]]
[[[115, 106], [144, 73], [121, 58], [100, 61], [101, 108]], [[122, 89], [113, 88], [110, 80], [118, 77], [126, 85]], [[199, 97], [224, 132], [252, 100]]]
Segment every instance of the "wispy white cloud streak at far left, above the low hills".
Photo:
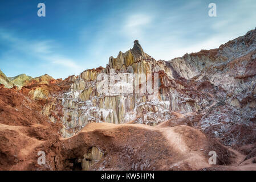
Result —
[[[0, 57], [0, 61], [10, 59], [17, 61], [18, 59], [23, 60], [26, 56], [30, 56], [34, 57], [38, 64], [48, 64], [48, 67], [62, 67], [76, 74], [83, 71], [75, 60], [55, 52], [54, 40], [30, 40], [19, 38], [3, 29], [0, 30], [0, 40], [6, 47], [10, 47], [9, 51], [6, 51]], [[22, 54], [23, 57], [19, 57], [18, 53]], [[63, 73], [66, 72], [63, 71]], [[57, 73], [56, 75], [63, 78], [66, 77], [65, 75], [62, 75], [62, 73]]]

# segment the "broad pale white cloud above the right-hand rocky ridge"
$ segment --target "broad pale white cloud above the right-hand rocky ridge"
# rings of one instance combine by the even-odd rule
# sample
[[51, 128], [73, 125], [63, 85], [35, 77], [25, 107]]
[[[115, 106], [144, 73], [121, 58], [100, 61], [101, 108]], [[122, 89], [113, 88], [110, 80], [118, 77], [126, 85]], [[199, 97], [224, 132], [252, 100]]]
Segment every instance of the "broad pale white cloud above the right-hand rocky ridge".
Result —
[[[185, 53], [218, 48], [221, 44], [245, 35], [247, 31], [255, 28], [256, 3], [253, 1], [216, 3], [217, 18], [208, 16], [206, 2], [189, 1], [170, 11], [148, 10], [151, 12], [151, 18], [148, 20], [140, 20], [139, 16], [128, 18], [132, 25], [135, 24], [135, 30], [127, 28], [128, 26], [125, 26], [124, 30], [127, 35], [139, 39], [144, 51], [155, 59], [170, 60]], [[131, 17], [132, 14], [133, 11]], [[144, 22], [143, 19], [146, 19], [145, 24], [136, 23]], [[136, 34], [137, 24], [139, 34]]]

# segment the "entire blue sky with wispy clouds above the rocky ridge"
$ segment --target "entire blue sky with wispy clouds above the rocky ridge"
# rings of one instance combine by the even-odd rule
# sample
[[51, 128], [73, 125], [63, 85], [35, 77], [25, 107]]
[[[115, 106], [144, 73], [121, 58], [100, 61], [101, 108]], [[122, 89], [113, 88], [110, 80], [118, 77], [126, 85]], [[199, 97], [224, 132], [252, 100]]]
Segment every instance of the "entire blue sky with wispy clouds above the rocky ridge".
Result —
[[[46, 17], [38, 17], [38, 3]], [[217, 17], [208, 16], [216, 3]], [[256, 27], [255, 0], [1, 0], [0, 69], [54, 78], [105, 67], [139, 40], [156, 60], [217, 48]]]

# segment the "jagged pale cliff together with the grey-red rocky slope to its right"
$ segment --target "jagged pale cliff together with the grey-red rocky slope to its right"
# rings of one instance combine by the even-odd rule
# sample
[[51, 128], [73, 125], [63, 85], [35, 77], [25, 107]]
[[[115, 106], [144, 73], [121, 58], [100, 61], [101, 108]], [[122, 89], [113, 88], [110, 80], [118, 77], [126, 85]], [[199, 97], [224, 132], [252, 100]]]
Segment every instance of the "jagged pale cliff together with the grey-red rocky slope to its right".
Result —
[[[200, 117], [193, 123], [220, 137], [244, 123], [255, 120], [255, 51], [256, 31], [209, 51], [186, 54], [170, 61], [156, 61], [141, 48], [138, 40], [129, 51], [109, 58], [105, 68], [86, 70], [70, 78], [67, 92], [58, 95], [63, 108], [63, 137], [70, 137], [90, 122], [144, 123], [155, 126], [177, 117]], [[118, 78], [120, 74], [154, 74], [159, 77], [157, 97], [148, 93], [100, 93], [97, 76], [106, 73]], [[147, 78], [148, 79], [148, 78]], [[127, 86], [115, 80], [109, 90]], [[134, 81], [131, 82], [135, 85]], [[141, 87], [141, 86], [140, 86]], [[49, 103], [45, 108], [55, 105]], [[218, 115], [218, 117], [216, 117]], [[253, 133], [255, 127], [248, 127]], [[234, 136], [224, 139], [227, 144], [240, 140]]]

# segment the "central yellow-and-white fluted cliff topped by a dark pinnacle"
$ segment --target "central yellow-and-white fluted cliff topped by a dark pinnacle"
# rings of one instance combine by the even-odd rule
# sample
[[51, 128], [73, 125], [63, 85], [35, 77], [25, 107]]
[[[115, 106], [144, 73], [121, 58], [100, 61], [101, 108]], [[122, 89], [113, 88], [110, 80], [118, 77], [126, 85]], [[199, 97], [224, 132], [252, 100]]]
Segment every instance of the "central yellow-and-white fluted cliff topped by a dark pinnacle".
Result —
[[[152, 77], [157, 73], [159, 94], [149, 100], [148, 93], [99, 93], [97, 76], [101, 73], [110, 73], [116, 77], [120, 73], [149, 73]], [[202, 98], [190, 98], [189, 94], [182, 90], [185, 86], [182, 82], [184, 80], [181, 78], [181, 81], [177, 81], [174, 77], [181, 78], [168, 61], [156, 61], [148, 56], [136, 40], [129, 51], [119, 52], [116, 58], [110, 57], [106, 68], [100, 67], [81, 73], [75, 78], [68, 92], [60, 96], [64, 114], [62, 121], [66, 126], [62, 130], [63, 136], [69, 137], [71, 134], [66, 132], [67, 130], [73, 129], [74, 133], [88, 122], [118, 124], [135, 120], [136, 123], [156, 125], [172, 118], [172, 111], [196, 112], [201, 109], [200, 103], [203, 99], [212, 100], [212, 97], [203, 94]]]

